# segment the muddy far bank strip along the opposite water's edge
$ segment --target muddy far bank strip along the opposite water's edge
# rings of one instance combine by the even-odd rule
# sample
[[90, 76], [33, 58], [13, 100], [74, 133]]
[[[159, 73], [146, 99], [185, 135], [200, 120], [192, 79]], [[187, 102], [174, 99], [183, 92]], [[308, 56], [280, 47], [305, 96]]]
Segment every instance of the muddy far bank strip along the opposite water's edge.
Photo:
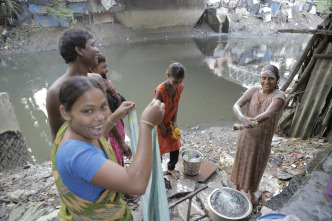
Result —
[[[227, 16], [230, 20], [229, 35], [240, 37], [275, 35], [278, 34], [278, 29], [315, 29], [323, 21], [322, 17], [311, 13], [294, 15], [289, 22], [278, 17], [272, 18], [270, 22], [264, 22], [262, 19], [247, 13], [229, 12]], [[77, 22], [72, 27], [88, 30], [95, 36], [97, 46], [100, 49], [116, 43], [131, 44], [155, 39], [204, 38], [220, 35], [214, 32], [204, 20], [194, 28], [153, 32], [133, 31], [119, 23], [94, 25], [87, 21]], [[58, 50], [59, 37], [67, 28], [71, 27], [38, 27], [26, 23], [19, 27], [12, 27], [9, 30], [12, 41], [6, 47], [0, 48], [1, 55]]]

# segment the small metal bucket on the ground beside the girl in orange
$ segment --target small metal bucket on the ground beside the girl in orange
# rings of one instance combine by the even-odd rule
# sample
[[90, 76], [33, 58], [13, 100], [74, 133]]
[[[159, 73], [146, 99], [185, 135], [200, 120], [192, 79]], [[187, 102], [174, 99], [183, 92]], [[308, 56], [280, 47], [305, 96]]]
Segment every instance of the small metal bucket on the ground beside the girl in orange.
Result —
[[199, 169], [203, 160], [203, 154], [197, 150], [185, 150], [181, 154], [183, 172], [189, 176], [199, 174]]

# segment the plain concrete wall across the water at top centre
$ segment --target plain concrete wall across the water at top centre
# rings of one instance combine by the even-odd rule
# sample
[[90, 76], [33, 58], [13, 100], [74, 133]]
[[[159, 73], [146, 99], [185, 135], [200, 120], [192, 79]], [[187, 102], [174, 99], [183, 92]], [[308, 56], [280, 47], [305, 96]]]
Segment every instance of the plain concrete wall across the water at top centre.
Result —
[[134, 30], [192, 28], [204, 13], [206, 0], [123, 0], [116, 20]]

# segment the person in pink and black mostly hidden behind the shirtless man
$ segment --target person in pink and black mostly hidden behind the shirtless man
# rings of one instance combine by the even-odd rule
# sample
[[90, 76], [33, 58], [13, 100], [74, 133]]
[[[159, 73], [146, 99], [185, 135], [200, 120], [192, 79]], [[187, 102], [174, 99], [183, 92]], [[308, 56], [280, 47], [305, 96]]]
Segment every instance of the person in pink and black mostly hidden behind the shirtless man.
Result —
[[[105, 87], [108, 89], [106, 92], [108, 105], [111, 111], [114, 112], [118, 108], [118, 106], [120, 106], [121, 103], [125, 101], [125, 98], [117, 92], [111, 80], [106, 76], [107, 72], [109, 71], [106, 57], [103, 54], [99, 53], [99, 55], [97, 56], [97, 60], [98, 65], [91, 67], [90, 72], [100, 74], [103, 77]], [[125, 155], [129, 159], [132, 155], [130, 147], [125, 142], [125, 131], [123, 126], [124, 124], [122, 120], [119, 120], [118, 122], [116, 122], [116, 126], [113, 127], [111, 132], [109, 134], [105, 134], [105, 138], [108, 138], [108, 143], [111, 145], [116, 159], [121, 166], [123, 166], [123, 155]], [[114, 130], [114, 128], [116, 127], [117, 129]]]

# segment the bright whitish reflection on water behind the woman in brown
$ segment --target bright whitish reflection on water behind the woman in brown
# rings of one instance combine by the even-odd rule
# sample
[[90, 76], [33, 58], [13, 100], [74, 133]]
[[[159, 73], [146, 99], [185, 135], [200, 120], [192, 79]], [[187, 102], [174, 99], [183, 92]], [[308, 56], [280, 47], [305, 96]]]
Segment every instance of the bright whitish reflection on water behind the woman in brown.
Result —
[[[256, 85], [262, 68], [273, 64], [279, 68], [280, 84], [287, 79], [308, 41], [301, 37], [196, 39], [206, 56], [205, 62], [215, 75], [243, 87]], [[208, 46], [208, 47], [206, 47]]]

